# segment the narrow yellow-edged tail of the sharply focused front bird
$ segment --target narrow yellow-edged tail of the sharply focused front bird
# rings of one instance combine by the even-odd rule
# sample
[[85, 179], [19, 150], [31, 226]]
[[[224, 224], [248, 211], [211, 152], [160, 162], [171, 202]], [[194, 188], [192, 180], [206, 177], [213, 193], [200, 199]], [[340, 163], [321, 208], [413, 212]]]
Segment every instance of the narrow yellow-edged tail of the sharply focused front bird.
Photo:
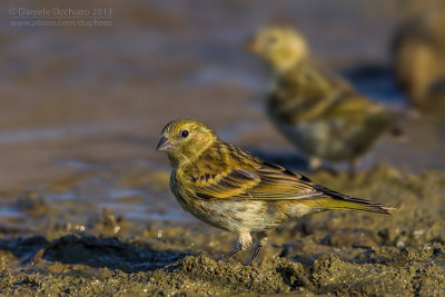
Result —
[[318, 187], [319, 187], [318, 190], [320, 190], [327, 196], [316, 199], [314, 204], [315, 207], [324, 210], [350, 209], [350, 210], [362, 210], [362, 211], [370, 211], [383, 215], [390, 215], [390, 210], [395, 209], [395, 207], [373, 202], [360, 198], [349, 197], [320, 186]]

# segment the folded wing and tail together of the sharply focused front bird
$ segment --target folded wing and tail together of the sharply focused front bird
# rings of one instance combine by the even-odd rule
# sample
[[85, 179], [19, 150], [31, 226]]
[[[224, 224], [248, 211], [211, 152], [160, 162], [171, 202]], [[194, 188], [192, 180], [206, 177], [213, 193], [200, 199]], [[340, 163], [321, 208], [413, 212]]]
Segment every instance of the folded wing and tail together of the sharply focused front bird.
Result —
[[255, 170], [230, 170], [205, 187], [195, 187], [195, 195], [200, 199], [299, 200], [320, 210], [353, 209], [389, 215], [389, 210], [394, 209], [334, 191], [305, 176], [268, 162]]

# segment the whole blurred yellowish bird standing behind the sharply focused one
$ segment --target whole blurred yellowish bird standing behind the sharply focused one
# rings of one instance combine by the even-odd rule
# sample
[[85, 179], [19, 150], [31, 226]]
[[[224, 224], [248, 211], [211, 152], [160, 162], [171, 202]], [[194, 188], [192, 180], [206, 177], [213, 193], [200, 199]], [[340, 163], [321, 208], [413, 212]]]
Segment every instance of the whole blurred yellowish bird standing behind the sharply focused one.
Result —
[[389, 127], [392, 113], [347, 81], [319, 68], [304, 37], [287, 27], [259, 30], [248, 43], [274, 72], [267, 113], [304, 155], [310, 169], [323, 160], [355, 164]]

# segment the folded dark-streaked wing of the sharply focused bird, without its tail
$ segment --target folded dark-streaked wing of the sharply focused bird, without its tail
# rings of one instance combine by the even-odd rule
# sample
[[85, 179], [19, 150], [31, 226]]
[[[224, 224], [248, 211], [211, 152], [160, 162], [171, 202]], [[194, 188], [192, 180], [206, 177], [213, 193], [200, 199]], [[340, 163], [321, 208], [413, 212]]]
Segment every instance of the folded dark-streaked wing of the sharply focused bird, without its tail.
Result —
[[201, 199], [305, 199], [324, 195], [306, 177], [280, 166], [264, 162], [255, 169], [231, 169], [195, 182], [191, 189]]

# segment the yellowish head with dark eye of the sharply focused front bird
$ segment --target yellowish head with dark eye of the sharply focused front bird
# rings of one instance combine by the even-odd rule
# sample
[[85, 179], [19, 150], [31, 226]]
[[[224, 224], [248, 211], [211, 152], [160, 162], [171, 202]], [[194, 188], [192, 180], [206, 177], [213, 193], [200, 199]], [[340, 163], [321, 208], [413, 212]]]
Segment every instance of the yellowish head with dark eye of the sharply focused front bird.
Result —
[[164, 127], [157, 151], [166, 151], [174, 168], [196, 160], [217, 140], [204, 123], [195, 120], [174, 120]]

